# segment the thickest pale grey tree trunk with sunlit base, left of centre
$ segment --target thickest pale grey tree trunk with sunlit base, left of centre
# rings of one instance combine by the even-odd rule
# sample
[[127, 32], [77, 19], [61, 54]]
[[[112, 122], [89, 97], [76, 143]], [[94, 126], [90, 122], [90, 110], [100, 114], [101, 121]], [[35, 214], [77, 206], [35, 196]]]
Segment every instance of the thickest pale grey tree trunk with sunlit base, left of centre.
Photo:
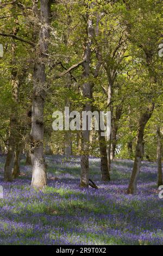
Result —
[[34, 66], [34, 92], [32, 106], [32, 127], [31, 137], [31, 158], [32, 158], [32, 187], [42, 188], [47, 185], [47, 173], [45, 158], [43, 155], [43, 109], [45, 103], [46, 84], [46, 58], [48, 50], [49, 23], [51, 20], [51, 1], [40, 1], [41, 15], [39, 44], [36, 52], [39, 56], [35, 60]]

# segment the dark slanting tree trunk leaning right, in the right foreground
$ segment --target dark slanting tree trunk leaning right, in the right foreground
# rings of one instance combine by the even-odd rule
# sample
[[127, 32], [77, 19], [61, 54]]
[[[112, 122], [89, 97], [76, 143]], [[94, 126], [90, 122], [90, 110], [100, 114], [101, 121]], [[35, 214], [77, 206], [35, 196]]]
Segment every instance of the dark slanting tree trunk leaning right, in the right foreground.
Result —
[[144, 130], [148, 120], [152, 116], [153, 110], [154, 110], [154, 103], [152, 103], [147, 108], [146, 112], [143, 113], [139, 119], [139, 128], [137, 129], [137, 142], [136, 142], [136, 149], [135, 149], [135, 160], [134, 160], [133, 171], [131, 173], [131, 178], [130, 178], [130, 182], [127, 190], [128, 194], [133, 194], [136, 192], [137, 177], [140, 172], [140, 166], [141, 166], [141, 161], [143, 157]]

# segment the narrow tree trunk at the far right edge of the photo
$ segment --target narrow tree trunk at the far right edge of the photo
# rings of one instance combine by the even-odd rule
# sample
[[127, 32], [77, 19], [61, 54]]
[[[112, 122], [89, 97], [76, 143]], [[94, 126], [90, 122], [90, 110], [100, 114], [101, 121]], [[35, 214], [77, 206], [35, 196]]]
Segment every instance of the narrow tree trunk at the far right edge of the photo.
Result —
[[161, 150], [162, 150], [162, 144], [161, 144], [161, 133], [160, 133], [160, 126], [156, 129], [156, 135], [157, 135], [157, 163], [158, 163], [158, 187], [160, 185], [163, 185], [162, 182], [162, 159], [161, 159]]

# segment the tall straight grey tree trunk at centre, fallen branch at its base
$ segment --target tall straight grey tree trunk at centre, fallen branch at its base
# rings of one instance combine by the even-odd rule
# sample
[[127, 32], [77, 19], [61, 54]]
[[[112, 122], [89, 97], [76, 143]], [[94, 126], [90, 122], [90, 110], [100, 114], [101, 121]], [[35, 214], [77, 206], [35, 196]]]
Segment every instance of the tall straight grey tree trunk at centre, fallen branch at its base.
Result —
[[[83, 79], [89, 80], [90, 77], [90, 59], [91, 59], [91, 45], [93, 37], [93, 23], [91, 17], [87, 17], [87, 42], [85, 45], [84, 60], [83, 65]], [[90, 82], [85, 82], [82, 87], [84, 99], [92, 98], [92, 88]], [[86, 101], [84, 103], [83, 111], [91, 111], [91, 101]], [[80, 156], [81, 163], [81, 176], [80, 176], [80, 186], [89, 187], [89, 141], [90, 141], [90, 131], [88, 130], [88, 124], [86, 131], [82, 131], [82, 155]]]

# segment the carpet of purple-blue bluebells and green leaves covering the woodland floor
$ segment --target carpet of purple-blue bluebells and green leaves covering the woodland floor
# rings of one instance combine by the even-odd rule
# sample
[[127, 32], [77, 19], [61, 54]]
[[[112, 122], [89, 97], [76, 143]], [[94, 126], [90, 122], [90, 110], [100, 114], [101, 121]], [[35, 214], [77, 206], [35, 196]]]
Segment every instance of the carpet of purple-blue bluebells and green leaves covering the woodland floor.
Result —
[[48, 187], [30, 188], [32, 168], [21, 160], [21, 176], [3, 181], [0, 157], [1, 245], [162, 245], [163, 199], [156, 187], [156, 164], [143, 162], [135, 196], [126, 194], [133, 162], [112, 162], [111, 181], [100, 180], [100, 162], [90, 158], [98, 185], [79, 188], [80, 160], [47, 156]]

